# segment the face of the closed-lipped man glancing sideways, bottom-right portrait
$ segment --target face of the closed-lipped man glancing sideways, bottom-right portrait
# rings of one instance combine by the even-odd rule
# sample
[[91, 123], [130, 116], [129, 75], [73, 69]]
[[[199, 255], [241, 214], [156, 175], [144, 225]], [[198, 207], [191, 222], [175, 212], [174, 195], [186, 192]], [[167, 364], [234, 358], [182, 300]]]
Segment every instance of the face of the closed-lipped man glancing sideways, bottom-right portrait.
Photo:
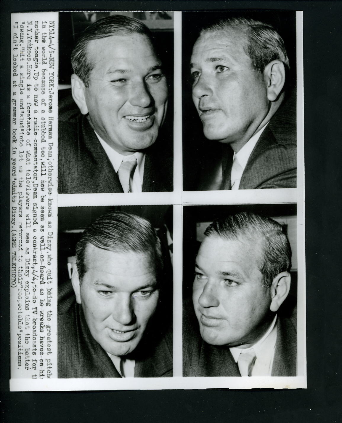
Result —
[[211, 345], [254, 344], [270, 324], [271, 290], [263, 287], [258, 242], [208, 236], [196, 258], [194, 310]]

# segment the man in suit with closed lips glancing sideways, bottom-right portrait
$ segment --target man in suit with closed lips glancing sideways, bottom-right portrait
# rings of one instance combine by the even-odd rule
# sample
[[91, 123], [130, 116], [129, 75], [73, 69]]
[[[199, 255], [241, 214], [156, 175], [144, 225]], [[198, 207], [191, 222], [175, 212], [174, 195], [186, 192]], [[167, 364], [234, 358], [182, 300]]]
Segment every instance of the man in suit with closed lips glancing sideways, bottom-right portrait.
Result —
[[284, 307], [290, 267], [290, 244], [274, 220], [242, 212], [208, 226], [194, 313], [184, 310], [184, 376], [296, 376], [296, 315]]

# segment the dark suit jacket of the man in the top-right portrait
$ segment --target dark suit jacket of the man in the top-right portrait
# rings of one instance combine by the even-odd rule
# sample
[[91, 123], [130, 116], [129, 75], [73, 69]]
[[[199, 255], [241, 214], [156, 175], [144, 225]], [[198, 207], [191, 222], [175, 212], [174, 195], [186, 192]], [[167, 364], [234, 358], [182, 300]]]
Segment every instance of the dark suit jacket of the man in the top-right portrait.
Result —
[[[296, 110], [290, 97], [269, 121], [250, 155], [239, 190], [297, 186]], [[224, 146], [222, 190], [230, 190], [233, 150]]]

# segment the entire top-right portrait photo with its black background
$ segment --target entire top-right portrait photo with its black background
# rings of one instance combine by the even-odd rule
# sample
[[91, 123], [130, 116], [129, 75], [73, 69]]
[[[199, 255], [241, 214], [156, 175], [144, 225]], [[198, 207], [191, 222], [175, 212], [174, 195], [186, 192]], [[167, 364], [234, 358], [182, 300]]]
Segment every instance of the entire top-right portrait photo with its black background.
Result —
[[295, 188], [295, 12], [183, 12], [182, 28], [184, 190]]

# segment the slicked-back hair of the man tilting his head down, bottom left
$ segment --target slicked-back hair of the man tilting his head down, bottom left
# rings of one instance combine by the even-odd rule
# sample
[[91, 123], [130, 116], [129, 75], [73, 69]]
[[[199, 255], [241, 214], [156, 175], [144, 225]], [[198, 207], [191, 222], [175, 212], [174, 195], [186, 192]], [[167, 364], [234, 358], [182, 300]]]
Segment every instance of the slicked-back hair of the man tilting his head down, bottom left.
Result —
[[148, 253], [156, 275], [163, 268], [161, 245], [151, 223], [143, 217], [115, 211], [98, 217], [83, 233], [76, 245], [76, 265], [79, 280], [87, 272], [87, 246], [113, 253]]

